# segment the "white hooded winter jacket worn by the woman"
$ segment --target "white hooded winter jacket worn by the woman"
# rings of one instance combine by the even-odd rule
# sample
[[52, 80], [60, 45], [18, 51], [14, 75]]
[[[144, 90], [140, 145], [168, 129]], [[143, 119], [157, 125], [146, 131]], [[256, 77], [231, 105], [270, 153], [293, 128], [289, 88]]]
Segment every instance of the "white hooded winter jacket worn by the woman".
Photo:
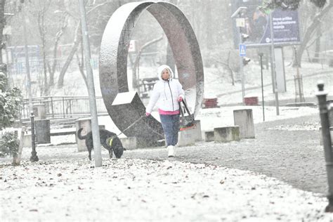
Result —
[[[170, 70], [170, 78], [167, 81], [162, 79], [162, 71], [168, 68]], [[159, 110], [163, 111], [176, 111], [179, 110], [178, 96], [184, 98], [185, 93], [183, 86], [178, 79], [173, 79], [174, 73], [168, 65], [161, 65], [157, 69], [159, 81], [154, 85], [152, 93], [150, 93], [149, 104], [145, 109], [145, 112], [151, 113], [152, 108], [157, 103]]]

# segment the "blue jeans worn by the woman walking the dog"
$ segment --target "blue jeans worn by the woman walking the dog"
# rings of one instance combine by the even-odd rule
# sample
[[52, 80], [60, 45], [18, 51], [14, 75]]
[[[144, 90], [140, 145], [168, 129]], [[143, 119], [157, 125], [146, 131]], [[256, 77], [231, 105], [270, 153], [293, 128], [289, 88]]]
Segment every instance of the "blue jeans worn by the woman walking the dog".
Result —
[[179, 114], [159, 115], [164, 130], [166, 145], [176, 145], [178, 143]]

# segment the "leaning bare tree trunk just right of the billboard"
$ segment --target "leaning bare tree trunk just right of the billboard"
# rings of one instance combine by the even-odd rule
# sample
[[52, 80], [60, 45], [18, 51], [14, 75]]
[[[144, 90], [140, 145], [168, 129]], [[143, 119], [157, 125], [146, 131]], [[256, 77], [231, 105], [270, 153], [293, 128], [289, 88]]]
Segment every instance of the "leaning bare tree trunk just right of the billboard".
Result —
[[308, 41], [311, 40], [311, 37], [313, 36], [313, 32], [317, 29], [317, 27], [320, 25], [321, 18], [326, 15], [329, 10], [333, 7], [333, 1], [329, 1], [329, 5], [327, 5], [320, 13], [315, 15], [315, 18], [313, 18], [313, 21], [311, 25], [306, 29], [306, 33], [304, 34], [303, 41], [301, 42], [301, 45], [299, 46], [299, 49], [297, 50], [297, 58], [294, 59], [293, 67], [299, 66], [301, 67], [301, 58], [303, 55], [304, 50], [306, 49], [306, 45], [308, 44]]

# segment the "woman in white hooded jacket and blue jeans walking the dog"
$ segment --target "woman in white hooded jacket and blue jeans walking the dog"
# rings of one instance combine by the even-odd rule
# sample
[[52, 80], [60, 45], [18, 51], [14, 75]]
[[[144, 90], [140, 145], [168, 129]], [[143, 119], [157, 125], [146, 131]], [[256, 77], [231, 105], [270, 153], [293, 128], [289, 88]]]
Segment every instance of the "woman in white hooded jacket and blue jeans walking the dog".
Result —
[[159, 81], [152, 89], [149, 104], [145, 109], [145, 115], [149, 116], [152, 108], [157, 103], [168, 149], [168, 157], [174, 157], [174, 146], [178, 143], [179, 131], [180, 112], [178, 102], [183, 100], [185, 93], [181, 83], [177, 79], [173, 79], [174, 73], [168, 65], [158, 67], [157, 74]]

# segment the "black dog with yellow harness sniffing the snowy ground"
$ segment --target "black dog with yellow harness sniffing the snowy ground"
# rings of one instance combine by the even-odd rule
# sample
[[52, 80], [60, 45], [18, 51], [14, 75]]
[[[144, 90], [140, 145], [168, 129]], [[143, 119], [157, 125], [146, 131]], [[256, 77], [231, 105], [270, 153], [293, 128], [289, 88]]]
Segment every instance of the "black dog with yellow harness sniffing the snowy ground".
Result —
[[[89, 133], [86, 133], [86, 136], [81, 136], [82, 130], [83, 128], [80, 128], [79, 131], [77, 131], [77, 138], [80, 140], [86, 140], [86, 148], [89, 152], [88, 157], [91, 160], [91, 150], [93, 149], [93, 132], [90, 131]], [[105, 149], [109, 150], [110, 158], [112, 158], [112, 150], [115, 152], [115, 156], [117, 158], [122, 157], [122, 154], [125, 150], [122, 146], [122, 141], [120, 141], [120, 139], [117, 137], [117, 134], [107, 131], [106, 129], [100, 129], [100, 145], [103, 145]]]

